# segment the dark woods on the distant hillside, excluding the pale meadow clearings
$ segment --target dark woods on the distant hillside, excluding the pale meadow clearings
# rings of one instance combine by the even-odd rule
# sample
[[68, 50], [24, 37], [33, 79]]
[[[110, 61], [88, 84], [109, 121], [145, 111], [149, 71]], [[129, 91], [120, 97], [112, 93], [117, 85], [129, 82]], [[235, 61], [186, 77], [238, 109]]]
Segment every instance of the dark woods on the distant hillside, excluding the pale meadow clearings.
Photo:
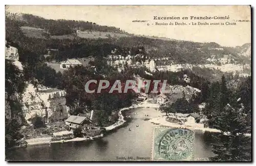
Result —
[[[53, 31], [55, 29], [63, 29], [57, 31], [66, 31], [65, 27], [73, 29], [79, 27], [79, 23], [83, 21], [73, 20], [47, 20], [41, 17], [35, 17], [33, 15], [26, 15], [29, 25], [27, 26], [47, 26], [51, 25]], [[37, 23], [36, 23], [37, 22]], [[39, 23], [38, 23], [39, 22]], [[51, 22], [54, 22], [52, 25]], [[62, 23], [64, 25], [62, 25]], [[76, 25], [76, 23], [78, 25]], [[83, 22], [88, 23], [88, 22]], [[55, 26], [55, 24], [57, 24]], [[59, 25], [59, 26], [58, 26]], [[89, 25], [91, 23], [89, 22]], [[94, 25], [94, 24], [92, 24]], [[129, 36], [120, 38], [106, 38], [106, 39], [83, 39], [76, 37], [74, 40], [70, 39], [52, 39], [52, 38], [29, 38], [23, 35], [19, 27], [24, 26], [24, 22], [20, 20], [11, 19], [6, 17], [6, 32], [7, 41], [17, 43], [24, 50], [28, 50], [38, 55], [45, 54], [45, 50], [49, 48], [58, 49], [59, 54], [55, 58], [57, 61], [66, 60], [67, 58], [82, 58], [88, 56], [106, 56], [111, 55], [111, 51], [117, 49], [116, 54], [122, 56], [136, 55], [139, 50], [143, 50], [142, 54], [147, 54], [150, 57], [168, 57], [169, 63], [177, 64], [203, 64], [206, 58], [210, 58], [211, 55], [229, 54], [224, 50], [208, 50], [215, 46], [219, 46], [217, 43], [198, 43], [191, 41], [179, 41], [179, 40], [162, 40], [158, 38], [148, 38], [142, 36]], [[72, 28], [73, 27], [73, 28]], [[97, 26], [94, 26], [97, 27]], [[56, 32], [56, 33], [57, 33]], [[64, 32], [63, 32], [64, 33]], [[17, 35], [13, 35], [17, 34]], [[57, 34], [59, 35], [59, 34]], [[37, 56], [38, 56], [37, 55]]]

